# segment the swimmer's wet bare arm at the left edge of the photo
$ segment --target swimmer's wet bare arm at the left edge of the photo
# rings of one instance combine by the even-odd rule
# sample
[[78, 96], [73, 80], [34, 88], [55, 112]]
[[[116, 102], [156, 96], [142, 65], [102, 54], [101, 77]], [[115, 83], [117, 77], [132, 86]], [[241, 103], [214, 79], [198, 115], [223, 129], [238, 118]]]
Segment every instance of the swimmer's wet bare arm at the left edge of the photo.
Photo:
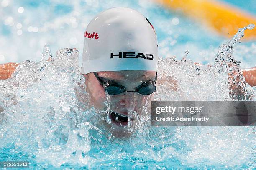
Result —
[[10, 78], [18, 65], [18, 63], [13, 62], [0, 64], [0, 80]]

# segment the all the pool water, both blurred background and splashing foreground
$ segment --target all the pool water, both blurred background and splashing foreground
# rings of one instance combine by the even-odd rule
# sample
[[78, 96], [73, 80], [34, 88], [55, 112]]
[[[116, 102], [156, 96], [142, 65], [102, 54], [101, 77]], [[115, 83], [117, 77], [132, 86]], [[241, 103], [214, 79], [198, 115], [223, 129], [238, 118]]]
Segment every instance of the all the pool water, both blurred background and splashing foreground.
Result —
[[[147, 16], [156, 28], [163, 58], [154, 100], [238, 100], [228, 89], [227, 77], [237, 73], [244, 100], [254, 101], [256, 89], [244, 83], [239, 70], [254, 66], [255, 42], [236, 40], [247, 28], [225, 40], [145, 0], [25, 0], [1, 5], [1, 62], [21, 64], [12, 78], [0, 81], [0, 161], [29, 161], [31, 169], [255, 168], [253, 126], [151, 127], [150, 114], [133, 112], [141, 124], [132, 127], [130, 137], [117, 138], [107, 112], [89, 107], [79, 69], [87, 23], [101, 10], [127, 6]], [[175, 19], [175, 25], [173, 18], [179, 23]], [[46, 43], [51, 49], [44, 47]], [[55, 51], [54, 59], [46, 61]], [[212, 67], [193, 62], [210, 62]], [[166, 83], [170, 78], [177, 82], [176, 90]]]

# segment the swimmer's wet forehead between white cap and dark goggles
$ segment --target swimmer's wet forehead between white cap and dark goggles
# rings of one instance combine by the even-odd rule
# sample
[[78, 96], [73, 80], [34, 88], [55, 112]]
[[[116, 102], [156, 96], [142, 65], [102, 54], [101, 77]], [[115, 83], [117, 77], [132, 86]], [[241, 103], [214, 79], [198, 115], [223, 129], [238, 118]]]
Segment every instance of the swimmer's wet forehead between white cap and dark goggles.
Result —
[[156, 71], [125, 70], [125, 71], [102, 71], [100, 77], [110, 80], [152, 80], [156, 77]]

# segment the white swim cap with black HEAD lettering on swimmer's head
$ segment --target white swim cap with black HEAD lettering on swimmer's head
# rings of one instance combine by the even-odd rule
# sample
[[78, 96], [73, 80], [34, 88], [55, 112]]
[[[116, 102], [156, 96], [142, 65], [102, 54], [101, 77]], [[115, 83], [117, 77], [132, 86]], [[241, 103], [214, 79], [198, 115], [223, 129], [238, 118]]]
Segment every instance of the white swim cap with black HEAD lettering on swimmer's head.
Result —
[[82, 74], [96, 71], [156, 71], [157, 38], [141, 13], [115, 7], [97, 15], [84, 32]]

